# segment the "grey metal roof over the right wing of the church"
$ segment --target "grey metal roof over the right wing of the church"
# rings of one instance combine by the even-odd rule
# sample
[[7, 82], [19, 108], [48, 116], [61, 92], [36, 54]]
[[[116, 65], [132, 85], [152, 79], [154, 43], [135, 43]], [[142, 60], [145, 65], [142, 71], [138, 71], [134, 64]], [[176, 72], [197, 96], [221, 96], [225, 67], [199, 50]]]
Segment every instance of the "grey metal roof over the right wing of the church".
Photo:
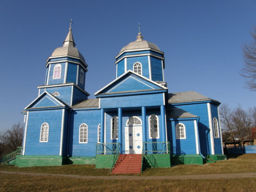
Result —
[[[205, 101], [212, 100], [211, 98], [201, 95], [195, 91], [187, 91], [187, 92], [175, 92], [168, 94], [168, 103], [183, 103], [183, 102], [192, 102], [192, 101]], [[218, 102], [217, 100], [212, 100]]]

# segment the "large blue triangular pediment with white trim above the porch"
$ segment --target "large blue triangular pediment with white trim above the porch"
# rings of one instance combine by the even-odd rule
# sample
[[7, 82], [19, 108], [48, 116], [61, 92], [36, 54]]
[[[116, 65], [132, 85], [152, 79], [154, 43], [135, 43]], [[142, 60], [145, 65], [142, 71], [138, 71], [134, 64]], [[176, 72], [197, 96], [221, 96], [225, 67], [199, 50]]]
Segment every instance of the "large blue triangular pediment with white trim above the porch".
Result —
[[118, 92], [152, 91], [159, 89], [167, 88], [129, 70], [126, 72], [126, 74], [123, 74], [110, 84], [106, 85], [104, 88], [100, 89], [100, 91], [96, 92], [95, 95]]

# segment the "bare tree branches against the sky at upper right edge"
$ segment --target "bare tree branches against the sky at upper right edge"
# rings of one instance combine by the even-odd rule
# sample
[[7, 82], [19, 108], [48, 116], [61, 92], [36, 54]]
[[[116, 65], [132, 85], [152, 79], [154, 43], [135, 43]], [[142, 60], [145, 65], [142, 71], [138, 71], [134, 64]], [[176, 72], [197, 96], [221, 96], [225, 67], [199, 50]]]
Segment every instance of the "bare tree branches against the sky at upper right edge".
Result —
[[251, 35], [252, 42], [242, 47], [245, 63], [240, 74], [245, 78], [245, 86], [251, 91], [256, 91], [256, 26]]

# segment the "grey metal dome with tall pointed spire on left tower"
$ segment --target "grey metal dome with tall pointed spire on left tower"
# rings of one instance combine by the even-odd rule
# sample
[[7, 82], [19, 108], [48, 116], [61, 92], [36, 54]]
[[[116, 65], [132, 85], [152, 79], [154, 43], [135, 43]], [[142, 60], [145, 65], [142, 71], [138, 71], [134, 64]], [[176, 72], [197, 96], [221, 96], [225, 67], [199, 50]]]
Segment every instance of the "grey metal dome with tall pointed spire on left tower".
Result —
[[74, 38], [71, 30], [72, 28], [70, 27], [69, 32], [67, 33], [67, 37], [63, 42], [63, 46], [56, 48], [54, 52], [52, 52], [51, 56], [56, 57], [56, 56], [68, 55], [68, 56], [78, 57], [85, 62], [83, 55], [78, 51], [77, 48], [75, 48]]

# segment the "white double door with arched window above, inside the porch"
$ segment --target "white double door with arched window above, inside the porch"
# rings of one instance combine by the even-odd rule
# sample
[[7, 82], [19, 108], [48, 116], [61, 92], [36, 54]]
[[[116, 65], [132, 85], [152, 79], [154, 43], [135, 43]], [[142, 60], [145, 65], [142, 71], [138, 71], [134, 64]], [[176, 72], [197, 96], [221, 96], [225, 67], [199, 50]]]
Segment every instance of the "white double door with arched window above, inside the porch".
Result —
[[125, 153], [142, 153], [142, 123], [138, 117], [130, 117], [125, 127]]

